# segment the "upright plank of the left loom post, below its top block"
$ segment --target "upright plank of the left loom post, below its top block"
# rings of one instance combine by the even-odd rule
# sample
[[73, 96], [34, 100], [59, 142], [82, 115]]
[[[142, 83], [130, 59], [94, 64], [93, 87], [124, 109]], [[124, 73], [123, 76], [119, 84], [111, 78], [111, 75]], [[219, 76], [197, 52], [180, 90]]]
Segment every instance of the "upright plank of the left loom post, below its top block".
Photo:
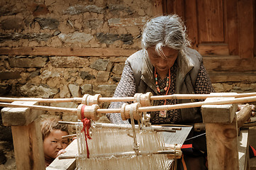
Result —
[[40, 118], [29, 125], [11, 126], [17, 169], [45, 169]]

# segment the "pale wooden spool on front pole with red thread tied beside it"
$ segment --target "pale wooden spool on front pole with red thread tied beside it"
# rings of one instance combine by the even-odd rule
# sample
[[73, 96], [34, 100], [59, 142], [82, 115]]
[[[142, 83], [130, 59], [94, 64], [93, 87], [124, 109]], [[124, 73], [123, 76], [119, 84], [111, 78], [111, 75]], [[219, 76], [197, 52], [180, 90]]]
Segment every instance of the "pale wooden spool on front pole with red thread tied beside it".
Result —
[[81, 120], [82, 116], [82, 109], [84, 111], [84, 118], [91, 119], [91, 120], [99, 120], [99, 113], [97, 113], [97, 110], [99, 109], [99, 105], [93, 104], [91, 106], [85, 106], [83, 104], [80, 104], [77, 107], [77, 116]]

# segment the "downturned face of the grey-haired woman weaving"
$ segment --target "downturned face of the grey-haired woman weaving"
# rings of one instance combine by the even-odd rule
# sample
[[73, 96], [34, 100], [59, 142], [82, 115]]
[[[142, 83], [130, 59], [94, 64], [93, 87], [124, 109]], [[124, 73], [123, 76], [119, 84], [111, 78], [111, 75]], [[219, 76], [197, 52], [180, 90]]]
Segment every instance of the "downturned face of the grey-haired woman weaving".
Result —
[[178, 50], [174, 50], [170, 47], [162, 47], [162, 51], [166, 57], [158, 55], [155, 51], [155, 47], [148, 47], [147, 51], [151, 64], [157, 69], [157, 73], [160, 74], [161, 77], [166, 76], [179, 54]]

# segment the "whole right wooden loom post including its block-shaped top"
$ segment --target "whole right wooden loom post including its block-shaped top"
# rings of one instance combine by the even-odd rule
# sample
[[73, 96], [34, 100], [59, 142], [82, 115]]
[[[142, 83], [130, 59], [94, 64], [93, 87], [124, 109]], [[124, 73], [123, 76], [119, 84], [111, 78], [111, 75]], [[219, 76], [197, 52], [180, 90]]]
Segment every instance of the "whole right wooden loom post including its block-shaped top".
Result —
[[[228, 98], [206, 98], [216, 101]], [[236, 104], [204, 105], [201, 107], [206, 124], [208, 169], [238, 170], [238, 126]]]

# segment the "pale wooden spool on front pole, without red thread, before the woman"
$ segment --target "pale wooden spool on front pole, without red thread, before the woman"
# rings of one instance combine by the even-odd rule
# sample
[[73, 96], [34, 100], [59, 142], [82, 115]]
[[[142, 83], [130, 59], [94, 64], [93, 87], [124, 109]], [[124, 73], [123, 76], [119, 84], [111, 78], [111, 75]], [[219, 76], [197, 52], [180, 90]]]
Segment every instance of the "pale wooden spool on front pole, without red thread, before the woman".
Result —
[[121, 118], [122, 120], [127, 120], [130, 118], [130, 109], [133, 111], [133, 118], [135, 120], [140, 120], [141, 118], [141, 112], [138, 111], [138, 108], [140, 107], [140, 103], [131, 103], [128, 105], [127, 103], [123, 103], [123, 106], [121, 108]]

